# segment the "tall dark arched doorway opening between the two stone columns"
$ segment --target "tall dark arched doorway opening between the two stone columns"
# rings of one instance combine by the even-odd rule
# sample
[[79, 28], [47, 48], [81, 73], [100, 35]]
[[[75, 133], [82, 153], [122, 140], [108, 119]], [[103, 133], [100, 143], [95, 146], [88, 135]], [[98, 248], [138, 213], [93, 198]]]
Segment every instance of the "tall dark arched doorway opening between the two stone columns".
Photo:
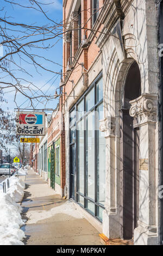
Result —
[[129, 101], [141, 95], [141, 76], [136, 62], [130, 65], [121, 109], [121, 157], [123, 170], [123, 239], [131, 239], [139, 215], [139, 127], [129, 115]]

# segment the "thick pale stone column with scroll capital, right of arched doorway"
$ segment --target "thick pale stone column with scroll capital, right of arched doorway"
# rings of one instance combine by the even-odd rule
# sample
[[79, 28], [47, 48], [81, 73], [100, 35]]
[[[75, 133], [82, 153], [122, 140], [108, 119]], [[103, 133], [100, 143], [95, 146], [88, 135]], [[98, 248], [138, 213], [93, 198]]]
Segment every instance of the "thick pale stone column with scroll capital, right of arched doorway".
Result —
[[143, 93], [130, 101], [130, 115], [140, 127], [139, 221], [134, 230], [135, 245], [156, 245], [155, 127], [158, 96]]

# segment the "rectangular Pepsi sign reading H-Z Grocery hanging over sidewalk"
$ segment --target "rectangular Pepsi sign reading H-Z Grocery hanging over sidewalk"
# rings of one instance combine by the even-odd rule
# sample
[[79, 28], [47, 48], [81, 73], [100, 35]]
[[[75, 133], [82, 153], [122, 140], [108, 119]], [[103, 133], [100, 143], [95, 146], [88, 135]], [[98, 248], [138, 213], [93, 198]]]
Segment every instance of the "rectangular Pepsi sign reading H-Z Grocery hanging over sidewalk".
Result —
[[17, 135], [45, 135], [44, 112], [17, 112], [16, 117]]

